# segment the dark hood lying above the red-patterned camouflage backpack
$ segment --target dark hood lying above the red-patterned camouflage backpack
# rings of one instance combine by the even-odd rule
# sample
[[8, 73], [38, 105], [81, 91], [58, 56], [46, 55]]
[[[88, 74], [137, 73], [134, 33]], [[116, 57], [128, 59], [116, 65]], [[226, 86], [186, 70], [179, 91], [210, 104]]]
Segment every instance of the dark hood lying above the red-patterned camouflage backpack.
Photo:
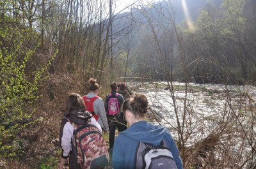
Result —
[[87, 111], [78, 112], [77, 110], [73, 110], [70, 114], [66, 115], [66, 117], [75, 124], [84, 125], [90, 122], [92, 114]]

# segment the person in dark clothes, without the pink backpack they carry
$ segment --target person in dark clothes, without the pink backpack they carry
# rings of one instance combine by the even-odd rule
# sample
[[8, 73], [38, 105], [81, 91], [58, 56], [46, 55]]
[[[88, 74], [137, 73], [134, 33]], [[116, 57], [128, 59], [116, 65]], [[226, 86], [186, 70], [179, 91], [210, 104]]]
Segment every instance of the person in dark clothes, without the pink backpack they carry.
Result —
[[[105, 109], [108, 119], [108, 125], [109, 125], [109, 151], [112, 151], [114, 142], [115, 142], [115, 131], [116, 128], [118, 129], [118, 132], [124, 131], [124, 114], [120, 113], [120, 108], [122, 107], [122, 104], [124, 103], [124, 97], [122, 94], [116, 93], [117, 84], [114, 82], [110, 85], [111, 87], [111, 93], [106, 96], [105, 99]], [[118, 99], [118, 107], [119, 112], [116, 115], [109, 115], [108, 114], [108, 103], [110, 98], [117, 98]]]

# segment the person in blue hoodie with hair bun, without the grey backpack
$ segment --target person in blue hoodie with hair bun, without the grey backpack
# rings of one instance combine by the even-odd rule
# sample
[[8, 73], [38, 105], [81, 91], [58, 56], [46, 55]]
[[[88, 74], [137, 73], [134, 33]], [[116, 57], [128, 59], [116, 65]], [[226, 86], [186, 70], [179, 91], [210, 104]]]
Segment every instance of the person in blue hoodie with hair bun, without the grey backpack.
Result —
[[114, 169], [135, 168], [134, 161], [139, 142], [157, 146], [162, 140], [165, 140], [172, 152], [177, 168], [183, 168], [179, 150], [170, 132], [164, 126], [144, 121], [148, 111], [148, 101], [145, 94], [134, 94], [131, 98], [126, 99], [122, 110], [130, 127], [116, 137], [112, 156]]

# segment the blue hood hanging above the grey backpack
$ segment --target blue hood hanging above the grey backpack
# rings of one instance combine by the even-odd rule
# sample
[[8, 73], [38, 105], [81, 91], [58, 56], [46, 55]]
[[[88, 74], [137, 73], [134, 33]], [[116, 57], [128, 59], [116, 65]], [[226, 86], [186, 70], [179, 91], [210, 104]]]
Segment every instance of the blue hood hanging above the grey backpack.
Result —
[[159, 145], [166, 135], [166, 129], [164, 126], [157, 126], [147, 121], [139, 121], [132, 124], [120, 135], [127, 136], [138, 142], [152, 143], [153, 145]]

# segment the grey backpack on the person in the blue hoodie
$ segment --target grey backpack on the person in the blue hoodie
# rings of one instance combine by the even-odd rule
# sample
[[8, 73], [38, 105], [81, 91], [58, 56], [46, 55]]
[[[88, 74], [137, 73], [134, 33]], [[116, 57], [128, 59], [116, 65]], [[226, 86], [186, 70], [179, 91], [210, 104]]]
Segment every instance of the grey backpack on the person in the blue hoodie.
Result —
[[155, 147], [150, 143], [139, 142], [136, 149], [135, 168], [177, 169], [172, 152], [164, 140]]

